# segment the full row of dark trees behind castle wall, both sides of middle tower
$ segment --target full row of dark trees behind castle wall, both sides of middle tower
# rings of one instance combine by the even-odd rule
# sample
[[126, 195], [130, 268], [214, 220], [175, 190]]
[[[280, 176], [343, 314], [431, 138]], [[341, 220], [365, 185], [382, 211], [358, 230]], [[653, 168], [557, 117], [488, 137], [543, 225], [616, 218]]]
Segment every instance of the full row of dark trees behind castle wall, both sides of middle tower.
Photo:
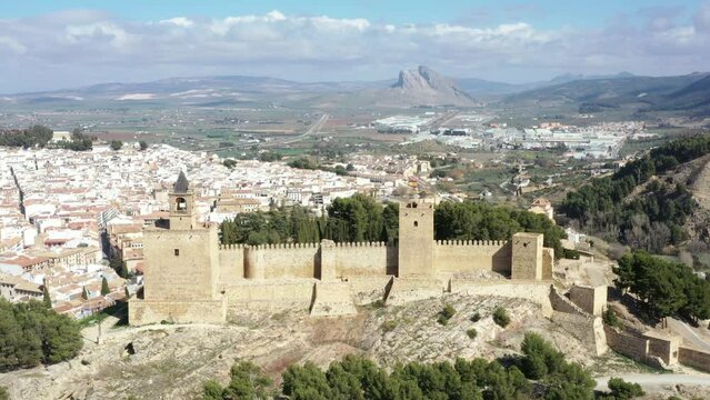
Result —
[[[371, 197], [356, 194], [336, 199], [328, 217], [313, 217], [302, 207], [281, 207], [267, 212], [238, 214], [221, 224], [221, 242], [228, 243], [314, 243], [383, 241], [394, 243], [399, 236], [399, 206], [378, 203]], [[544, 246], [556, 257], [564, 250], [564, 231], [542, 214], [491, 206], [484, 202], [444, 202], [434, 211], [437, 240], [509, 240], [520, 231], [544, 233]]]

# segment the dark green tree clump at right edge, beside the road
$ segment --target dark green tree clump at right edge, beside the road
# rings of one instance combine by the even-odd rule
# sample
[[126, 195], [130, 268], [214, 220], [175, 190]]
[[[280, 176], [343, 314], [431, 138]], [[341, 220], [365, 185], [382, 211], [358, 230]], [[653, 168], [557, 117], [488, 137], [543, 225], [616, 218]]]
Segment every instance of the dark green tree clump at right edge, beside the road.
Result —
[[653, 317], [710, 318], [710, 282], [681, 262], [633, 251], [619, 259], [613, 272], [617, 287], [634, 293]]

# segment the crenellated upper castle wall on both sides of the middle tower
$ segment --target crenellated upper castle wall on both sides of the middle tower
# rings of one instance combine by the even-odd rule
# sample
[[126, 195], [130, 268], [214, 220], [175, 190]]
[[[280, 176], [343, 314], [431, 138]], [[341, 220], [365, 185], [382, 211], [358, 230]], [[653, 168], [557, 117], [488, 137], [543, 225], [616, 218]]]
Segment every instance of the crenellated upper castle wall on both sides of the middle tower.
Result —
[[[511, 274], [509, 241], [434, 241], [431, 273], [492, 271]], [[220, 287], [243, 279], [350, 279], [397, 276], [399, 249], [383, 242], [219, 247]], [[552, 260], [549, 260], [551, 263]]]

